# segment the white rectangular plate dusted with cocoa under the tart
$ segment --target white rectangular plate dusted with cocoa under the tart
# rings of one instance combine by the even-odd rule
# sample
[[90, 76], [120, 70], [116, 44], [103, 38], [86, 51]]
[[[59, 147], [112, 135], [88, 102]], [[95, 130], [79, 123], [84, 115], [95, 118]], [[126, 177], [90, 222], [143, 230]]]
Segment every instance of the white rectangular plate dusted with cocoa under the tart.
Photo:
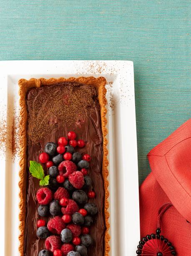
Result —
[[48, 79], [82, 75], [103, 76], [107, 80], [110, 256], [136, 254], [140, 230], [133, 62], [2, 61], [0, 62], [0, 220], [3, 223], [0, 232], [0, 248], [2, 256], [19, 256], [19, 158], [15, 156], [13, 161], [10, 150], [13, 143], [11, 127], [15, 117], [19, 115], [18, 80], [32, 77]]

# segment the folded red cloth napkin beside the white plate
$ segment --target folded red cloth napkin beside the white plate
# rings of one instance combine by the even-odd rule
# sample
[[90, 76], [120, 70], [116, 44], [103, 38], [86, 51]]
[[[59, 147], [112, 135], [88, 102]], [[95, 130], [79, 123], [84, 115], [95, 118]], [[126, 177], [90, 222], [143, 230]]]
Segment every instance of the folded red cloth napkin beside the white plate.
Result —
[[191, 119], [153, 148], [148, 160], [152, 172], [139, 191], [141, 237], [155, 233], [158, 209], [172, 202], [161, 218], [161, 234], [178, 256], [191, 255]]

